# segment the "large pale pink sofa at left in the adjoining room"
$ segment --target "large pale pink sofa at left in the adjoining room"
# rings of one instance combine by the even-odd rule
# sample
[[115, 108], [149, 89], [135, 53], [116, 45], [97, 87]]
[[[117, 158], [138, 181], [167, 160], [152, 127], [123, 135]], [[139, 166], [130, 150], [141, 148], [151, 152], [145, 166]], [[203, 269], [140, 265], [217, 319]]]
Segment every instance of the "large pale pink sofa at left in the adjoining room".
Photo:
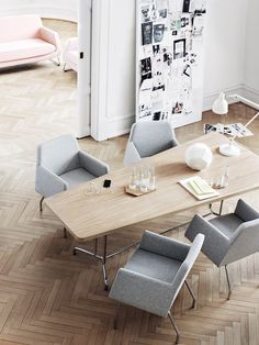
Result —
[[60, 43], [56, 32], [44, 27], [38, 15], [0, 16], [0, 67], [57, 58]]

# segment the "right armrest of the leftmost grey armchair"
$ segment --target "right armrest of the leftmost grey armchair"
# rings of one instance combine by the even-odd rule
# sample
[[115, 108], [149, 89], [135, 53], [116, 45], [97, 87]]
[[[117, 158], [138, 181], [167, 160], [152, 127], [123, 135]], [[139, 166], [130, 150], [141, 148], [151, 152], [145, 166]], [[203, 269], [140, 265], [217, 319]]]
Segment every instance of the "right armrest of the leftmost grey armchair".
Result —
[[79, 151], [80, 165], [91, 172], [92, 175], [99, 177], [109, 172], [110, 167], [105, 163], [92, 157], [83, 151]]

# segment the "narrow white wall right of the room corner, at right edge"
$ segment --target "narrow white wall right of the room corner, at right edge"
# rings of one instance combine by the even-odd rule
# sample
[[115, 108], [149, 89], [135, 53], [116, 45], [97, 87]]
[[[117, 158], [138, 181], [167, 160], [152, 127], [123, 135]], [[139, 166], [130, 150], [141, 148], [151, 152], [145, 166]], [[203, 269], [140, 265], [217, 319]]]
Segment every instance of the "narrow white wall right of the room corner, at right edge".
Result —
[[245, 45], [244, 88], [247, 97], [259, 102], [259, 1], [249, 0]]

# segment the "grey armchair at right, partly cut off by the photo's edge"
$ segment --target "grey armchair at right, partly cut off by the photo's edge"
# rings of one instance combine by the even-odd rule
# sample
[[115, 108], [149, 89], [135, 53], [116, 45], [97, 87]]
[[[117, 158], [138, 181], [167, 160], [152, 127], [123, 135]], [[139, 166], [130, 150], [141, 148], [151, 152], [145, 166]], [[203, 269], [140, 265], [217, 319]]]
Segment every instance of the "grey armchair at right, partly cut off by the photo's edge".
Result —
[[198, 233], [205, 235], [202, 252], [217, 267], [225, 267], [229, 299], [232, 288], [227, 265], [258, 252], [259, 212], [239, 199], [234, 213], [211, 221], [194, 215], [185, 236], [193, 241]]

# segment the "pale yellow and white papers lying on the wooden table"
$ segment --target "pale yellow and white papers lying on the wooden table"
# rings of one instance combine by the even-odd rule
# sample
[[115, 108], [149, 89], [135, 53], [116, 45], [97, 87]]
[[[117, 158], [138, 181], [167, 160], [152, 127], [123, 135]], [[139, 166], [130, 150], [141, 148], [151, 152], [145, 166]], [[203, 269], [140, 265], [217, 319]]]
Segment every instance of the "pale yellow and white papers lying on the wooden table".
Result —
[[218, 192], [215, 191], [204, 179], [200, 176], [194, 176], [180, 180], [179, 183], [185, 188], [198, 200], [204, 200], [217, 197]]

